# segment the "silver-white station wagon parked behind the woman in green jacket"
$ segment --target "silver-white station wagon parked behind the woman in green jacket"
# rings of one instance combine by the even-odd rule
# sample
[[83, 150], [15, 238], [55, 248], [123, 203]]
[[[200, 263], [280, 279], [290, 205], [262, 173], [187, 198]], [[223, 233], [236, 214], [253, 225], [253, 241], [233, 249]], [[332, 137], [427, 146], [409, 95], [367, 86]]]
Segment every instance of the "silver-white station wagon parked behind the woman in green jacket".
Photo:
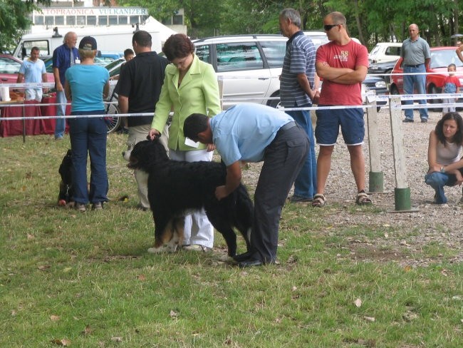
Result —
[[236, 35], [193, 43], [199, 59], [211, 63], [223, 81], [223, 108], [227, 109], [243, 102], [278, 105], [287, 40], [281, 35]]

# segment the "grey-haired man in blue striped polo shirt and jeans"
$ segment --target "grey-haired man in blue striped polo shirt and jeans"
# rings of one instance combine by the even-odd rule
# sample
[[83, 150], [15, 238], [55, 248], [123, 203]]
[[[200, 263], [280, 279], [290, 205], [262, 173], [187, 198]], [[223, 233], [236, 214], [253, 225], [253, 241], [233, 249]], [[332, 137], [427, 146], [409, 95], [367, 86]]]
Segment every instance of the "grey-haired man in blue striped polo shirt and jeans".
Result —
[[[283, 9], [279, 16], [281, 34], [288, 38], [286, 55], [280, 76], [281, 105], [285, 108], [312, 106], [318, 98], [318, 78], [315, 72], [316, 48], [301, 31], [301, 16], [295, 9]], [[294, 183], [291, 202], [310, 202], [317, 192], [317, 163], [311, 114], [308, 110], [286, 111], [308, 135], [310, 151]]]

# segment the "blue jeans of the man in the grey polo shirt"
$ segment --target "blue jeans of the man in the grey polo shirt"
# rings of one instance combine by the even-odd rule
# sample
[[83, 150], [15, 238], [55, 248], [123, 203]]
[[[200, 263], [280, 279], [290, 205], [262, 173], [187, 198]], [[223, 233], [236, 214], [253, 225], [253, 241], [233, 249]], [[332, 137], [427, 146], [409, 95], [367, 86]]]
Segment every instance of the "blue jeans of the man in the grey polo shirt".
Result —
[[[425, 73], [426, 66], [421, 64], [417, 68], [412, 66], [405, 66], [403, 68], [404, 73]], [[426, 75], [404, 75], [403, 76], [403, 90], [405, 94], [413, 94], [414, 86], [417, 89], [418, 94], [426, 94]], [[405, 101], [405, 105], [412, 105], [413, 101]], [[421, 105], [426, 105], [426, 99], [418, 101]], [[427, 108], [420, 108], [420, 118], [427, 120]], [[413, 109], [405, 109], [405, 118], [410, 120], [413, 119]]]

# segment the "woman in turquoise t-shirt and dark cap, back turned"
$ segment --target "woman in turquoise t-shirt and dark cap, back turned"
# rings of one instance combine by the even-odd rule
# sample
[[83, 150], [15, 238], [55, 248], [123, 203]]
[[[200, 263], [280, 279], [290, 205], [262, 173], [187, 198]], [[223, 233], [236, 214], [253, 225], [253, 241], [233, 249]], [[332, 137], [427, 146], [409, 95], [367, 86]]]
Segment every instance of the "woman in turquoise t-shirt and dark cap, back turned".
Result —
[[[80, 65], [66, 70], [64, 91], [72, 101], [71, 115], [103, 115], [103, 98], [109, 93], [109, 73], [96, 66], [96, 41], [85, 36], [79, 44]], [[93, 209], [103, 209], [108, 201], [108, 173], [106, 172], [106, 136], [108, 127], [102, 117], [78, 117], [69, 120], [73, 153], [73, 185], [76, 209], [85, 212], [90, 201]], [[87, 189], [87, 154], [90, 155], [90, 192]]]

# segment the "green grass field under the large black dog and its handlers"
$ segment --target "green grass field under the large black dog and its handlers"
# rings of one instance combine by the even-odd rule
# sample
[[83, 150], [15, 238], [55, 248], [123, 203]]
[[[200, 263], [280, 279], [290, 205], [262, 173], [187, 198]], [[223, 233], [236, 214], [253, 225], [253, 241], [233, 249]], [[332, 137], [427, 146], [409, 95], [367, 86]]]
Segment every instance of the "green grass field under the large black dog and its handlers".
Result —
[[219, 234], [212, 253], [147, 254], [125, 136], [108, 137], [110, 203], [86, 213], [56, 207], [68, 137], [0, 139], [0, 347], [463, 347], [462, 265], [432, 244], [428, 267], [374, 257], [369, 241], [420, 232], [380, 208], [286, 205], [279, 265], [240, 270]]

